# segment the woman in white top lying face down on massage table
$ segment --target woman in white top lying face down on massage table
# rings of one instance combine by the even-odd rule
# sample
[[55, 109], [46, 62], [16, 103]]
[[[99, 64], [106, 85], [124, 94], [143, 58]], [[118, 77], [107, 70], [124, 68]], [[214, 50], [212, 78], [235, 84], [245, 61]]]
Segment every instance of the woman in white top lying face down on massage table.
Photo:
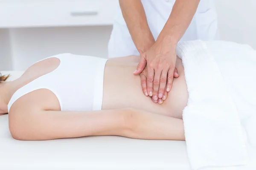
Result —
[[9, 112], [10, 132], [19, 140], [104, 135], [184, 140], [188, 94], [181, 60], [180, 77], [159, 105], [144, 96], [140, 76], [132, 74], [138, 59], [60, 54], [41, 60], [19, 79], [0, 82], [0, 113]]

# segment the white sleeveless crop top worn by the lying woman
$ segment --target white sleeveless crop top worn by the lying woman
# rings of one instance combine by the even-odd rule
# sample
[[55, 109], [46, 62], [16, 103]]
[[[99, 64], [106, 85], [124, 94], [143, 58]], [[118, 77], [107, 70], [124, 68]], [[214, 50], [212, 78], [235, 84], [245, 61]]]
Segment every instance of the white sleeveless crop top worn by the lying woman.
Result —
[[58, 68], [18, 89], [8, 103], [8, 111], [21, 96], [38, 89], [52, 91], [61, 111], [101, 110], [107, 59], [74, 54], [52, 57], [60, 60]]

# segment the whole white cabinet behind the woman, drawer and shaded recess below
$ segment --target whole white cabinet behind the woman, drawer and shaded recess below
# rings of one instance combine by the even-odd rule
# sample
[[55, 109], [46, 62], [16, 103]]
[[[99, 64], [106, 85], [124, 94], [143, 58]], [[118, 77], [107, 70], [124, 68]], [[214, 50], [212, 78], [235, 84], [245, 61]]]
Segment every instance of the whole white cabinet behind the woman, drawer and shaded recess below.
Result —
[[0, 71], [60, 53], [108, 56], [118, 0], [0, 0]]

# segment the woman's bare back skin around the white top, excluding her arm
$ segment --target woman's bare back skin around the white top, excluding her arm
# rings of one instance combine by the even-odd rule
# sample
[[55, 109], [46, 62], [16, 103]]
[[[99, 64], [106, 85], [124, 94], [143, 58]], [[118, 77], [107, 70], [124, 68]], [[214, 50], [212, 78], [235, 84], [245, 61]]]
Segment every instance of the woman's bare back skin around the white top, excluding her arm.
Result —
[[[16, 87], [13, 93], [34, 79], [55, 70], [59, 63], [58, 59], [49, 58], [32, 65], [22, 77], [15, 80]], [[180, 77], [174, 80], [172, 90], [162, 105], [152, 102], [150, 97], [143, 94], [140, 76], [132, 74], [136, 66], [136, 62], [127, 62], [125, 58], [108, 60], [104, 72], [102, 110], [131, 107], [182, 118], [182, 110], [186, 106], [188, 93], [181, 60], [178, 59], [176, 65]], [[17, 104], [22, 108], [33, 105], [33, 107], [43, 107], [46, 110], [60, 110], [58, 99], [46, 89], [32, 91], [20, 97], [18, 101]]]

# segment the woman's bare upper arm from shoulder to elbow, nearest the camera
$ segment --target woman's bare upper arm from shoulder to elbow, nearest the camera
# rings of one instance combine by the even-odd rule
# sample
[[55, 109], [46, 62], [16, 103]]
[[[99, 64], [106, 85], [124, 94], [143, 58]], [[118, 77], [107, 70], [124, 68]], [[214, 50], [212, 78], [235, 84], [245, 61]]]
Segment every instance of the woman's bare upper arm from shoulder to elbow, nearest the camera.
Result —
[[[14, 111], [14, 110], [13, 110]], [[20, 111], [19, 111], [20, 112]], [[82, 136], [124, 136], [127, 111], [21, 111], [11, 113], [9, 128], [19, 140], [51, 140]]]

